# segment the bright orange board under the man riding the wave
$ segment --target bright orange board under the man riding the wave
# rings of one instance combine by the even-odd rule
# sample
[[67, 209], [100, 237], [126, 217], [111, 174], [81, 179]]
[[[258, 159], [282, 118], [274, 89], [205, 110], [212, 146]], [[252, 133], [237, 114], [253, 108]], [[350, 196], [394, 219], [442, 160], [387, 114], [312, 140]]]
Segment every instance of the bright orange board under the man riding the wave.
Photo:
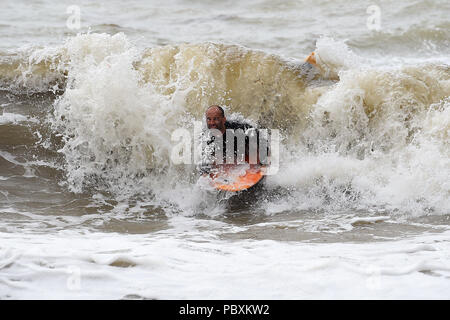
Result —
[[211, 173], [214, 188], [224, 191], [242, 191], [253, 187], [264, 177], [264, 167], [227, 166]]

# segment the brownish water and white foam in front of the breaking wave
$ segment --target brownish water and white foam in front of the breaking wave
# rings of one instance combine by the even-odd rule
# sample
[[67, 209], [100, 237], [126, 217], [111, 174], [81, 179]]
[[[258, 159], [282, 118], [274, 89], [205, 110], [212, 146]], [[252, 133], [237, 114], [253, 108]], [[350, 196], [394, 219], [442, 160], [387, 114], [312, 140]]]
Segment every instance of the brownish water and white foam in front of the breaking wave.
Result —
[[4, 114], [38, 119], [0, 126], [2, 299], [448, 297], [449, 215], [333, 209], [332, 199], [295, 209], [295, 190], [263, 186], [189, 212], [150, 192], [73, 193], [44, 124], [55, 96], [1, 99]]

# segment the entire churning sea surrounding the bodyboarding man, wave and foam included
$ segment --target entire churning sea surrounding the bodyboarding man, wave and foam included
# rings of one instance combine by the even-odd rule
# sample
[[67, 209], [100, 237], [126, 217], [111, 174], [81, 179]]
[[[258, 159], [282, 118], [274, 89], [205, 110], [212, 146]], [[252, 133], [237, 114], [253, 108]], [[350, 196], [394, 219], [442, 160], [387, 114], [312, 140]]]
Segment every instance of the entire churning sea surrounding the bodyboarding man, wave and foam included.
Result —
[[[1, 299], [450, 298], [447, 1], [78, 3], [0, 11]], [[256, 190], [172, 161], [212, 104]]]

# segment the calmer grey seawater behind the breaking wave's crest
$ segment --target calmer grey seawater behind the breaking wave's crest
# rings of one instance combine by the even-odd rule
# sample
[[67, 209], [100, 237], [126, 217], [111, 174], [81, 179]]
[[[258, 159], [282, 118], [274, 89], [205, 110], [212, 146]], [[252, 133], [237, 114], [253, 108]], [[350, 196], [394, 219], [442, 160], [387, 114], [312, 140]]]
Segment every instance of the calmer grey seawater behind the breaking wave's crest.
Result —
[[[320, 36], [346, 41], [358, 54], [425, 59], [449, 54], [448, 1], [15, 1], [0, 13], [2, 48], [59, 45], [86, 32], [124, 32], [143, 48], [218, 41], [303, 58]], [[375, 8], [373, 8], [375, 6]]]

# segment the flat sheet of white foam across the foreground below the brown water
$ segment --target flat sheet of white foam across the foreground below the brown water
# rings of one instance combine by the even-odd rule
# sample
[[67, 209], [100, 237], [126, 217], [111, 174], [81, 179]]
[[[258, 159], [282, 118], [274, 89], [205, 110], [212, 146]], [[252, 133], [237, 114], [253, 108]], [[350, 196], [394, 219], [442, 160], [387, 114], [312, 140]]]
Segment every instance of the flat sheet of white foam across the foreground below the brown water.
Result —
[[[2, 299], [445, 299], [448, 232], [360, 244], [1, 234]], [[182, 221], [177, 221], [180, 226]], [[170, 236], [169, 236], [170, 234]], [[200, 241], [197, 241], [200, 240]], [[392, 248], [396, 249], [393, 251]], [[8, 249], [6, 249], [8, 248]], [[42, 290], [42, 286], [52, 290]]]

